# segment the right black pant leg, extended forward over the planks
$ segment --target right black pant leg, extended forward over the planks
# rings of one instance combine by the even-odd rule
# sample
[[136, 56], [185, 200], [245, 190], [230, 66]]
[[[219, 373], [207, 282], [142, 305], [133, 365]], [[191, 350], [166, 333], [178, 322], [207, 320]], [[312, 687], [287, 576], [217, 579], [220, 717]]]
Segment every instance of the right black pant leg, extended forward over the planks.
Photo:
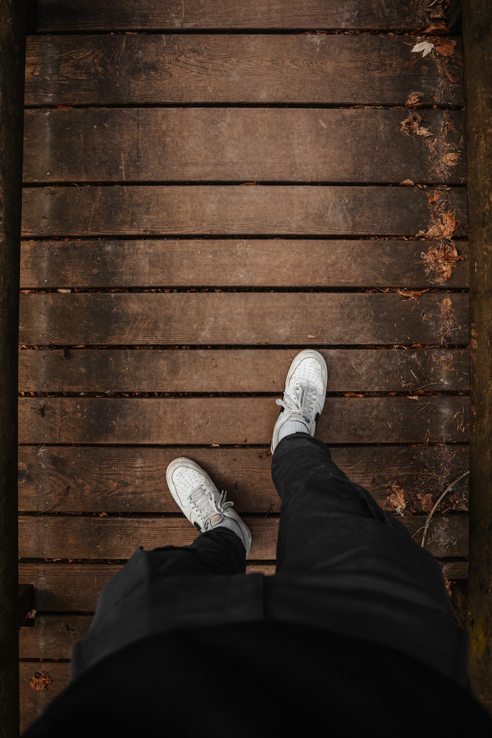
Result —
[[322, 441], [283, 438], [271, 473], [282, 500], [271, 617], [381, 642], [467, 686], [468, 637], [434, 556], [348, 479]]

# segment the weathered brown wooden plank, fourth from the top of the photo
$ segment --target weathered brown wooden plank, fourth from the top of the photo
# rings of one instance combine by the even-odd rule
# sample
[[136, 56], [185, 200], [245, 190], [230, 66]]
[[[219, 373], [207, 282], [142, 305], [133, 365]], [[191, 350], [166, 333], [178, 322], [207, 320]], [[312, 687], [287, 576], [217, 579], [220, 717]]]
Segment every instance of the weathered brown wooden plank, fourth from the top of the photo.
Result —
[[[466, 235], [466, 193], [447, 193]], [[429, 221], [417, 187], [106, 185], [24, 187], [22, 235], [413, 236]]]

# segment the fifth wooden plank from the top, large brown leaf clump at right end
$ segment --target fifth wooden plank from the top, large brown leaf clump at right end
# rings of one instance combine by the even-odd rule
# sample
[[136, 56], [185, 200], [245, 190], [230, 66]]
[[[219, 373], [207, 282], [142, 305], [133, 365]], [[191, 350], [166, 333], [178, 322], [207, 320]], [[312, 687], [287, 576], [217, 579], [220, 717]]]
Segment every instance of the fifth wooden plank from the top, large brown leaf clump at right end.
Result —
[[[468, 286], [468, 242], [447, 287]], [[439, 286], [422, 241], [153, 239], [21, 241], [21, 287]], [[279, 256], [282, 255], [282, 258]], [[292, 269], [292, 264], [296, 268]], [[186, 269], [183, 265], [186, 264]]]

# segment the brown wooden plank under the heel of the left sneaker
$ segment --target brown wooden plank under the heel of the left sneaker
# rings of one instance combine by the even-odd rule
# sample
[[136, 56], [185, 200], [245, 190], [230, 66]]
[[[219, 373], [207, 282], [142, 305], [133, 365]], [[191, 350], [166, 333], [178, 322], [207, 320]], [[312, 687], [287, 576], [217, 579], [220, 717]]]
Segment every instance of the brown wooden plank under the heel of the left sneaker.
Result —
[[[242, 517], [252, 533], [248, 558], [273, 561], [278, 518]], [[412, 536], [417, 531], [421, 534], [424, 516], [403, 516], [400, 520]], [[128, 559], [139, 546], [190, 545], [195, 538], [195, 528], [183, 516], [19, 517], [19, 556], [29, 559]], [[426, 550], [438, 557], [467, 556], [468, 515], [435, 517], [429, 525]]]

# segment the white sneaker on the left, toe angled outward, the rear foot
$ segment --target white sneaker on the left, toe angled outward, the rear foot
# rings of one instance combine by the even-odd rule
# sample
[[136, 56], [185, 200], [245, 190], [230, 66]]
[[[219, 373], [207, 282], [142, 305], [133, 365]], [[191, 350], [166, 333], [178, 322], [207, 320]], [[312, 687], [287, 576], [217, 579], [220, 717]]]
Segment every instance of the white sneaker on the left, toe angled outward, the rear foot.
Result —
[[232, 510], [234, 503], [226, 502], [227, 493], [219, 493], [207, 472], [204, 472], [198, 463], [183, 457], [174, 459], [167, 466], [166, 480], [176, 503], [198, 531], [201, 533], [211, 531], [212, 528], [221, 525], [224, 517], [232, 518], [240, 531], [246, 556], [249, 554], [251, 548], [249, 528], [238, 513]]

